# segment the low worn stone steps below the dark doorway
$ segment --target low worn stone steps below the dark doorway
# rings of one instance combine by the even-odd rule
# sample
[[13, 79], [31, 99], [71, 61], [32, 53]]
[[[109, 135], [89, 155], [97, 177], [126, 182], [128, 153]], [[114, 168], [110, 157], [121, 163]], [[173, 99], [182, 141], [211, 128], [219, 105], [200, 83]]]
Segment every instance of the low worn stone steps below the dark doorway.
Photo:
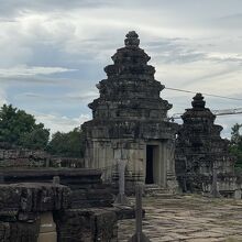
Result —
[[170, 194], [167, 188], [161, 187], [157, 184], [145, 184], [143, 193], [145, 197], [158, 197], [163, 199], [175, 198], [175, 195]]

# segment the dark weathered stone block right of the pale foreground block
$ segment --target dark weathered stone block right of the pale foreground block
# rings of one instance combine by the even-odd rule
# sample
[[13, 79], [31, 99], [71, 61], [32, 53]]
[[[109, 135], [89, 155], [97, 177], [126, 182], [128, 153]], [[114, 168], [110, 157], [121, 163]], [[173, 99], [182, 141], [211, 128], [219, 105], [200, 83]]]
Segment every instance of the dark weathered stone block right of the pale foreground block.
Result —
[[118, 241], [117, 213], [103, 209], [69, 209], [55, 212], [58, 241]]

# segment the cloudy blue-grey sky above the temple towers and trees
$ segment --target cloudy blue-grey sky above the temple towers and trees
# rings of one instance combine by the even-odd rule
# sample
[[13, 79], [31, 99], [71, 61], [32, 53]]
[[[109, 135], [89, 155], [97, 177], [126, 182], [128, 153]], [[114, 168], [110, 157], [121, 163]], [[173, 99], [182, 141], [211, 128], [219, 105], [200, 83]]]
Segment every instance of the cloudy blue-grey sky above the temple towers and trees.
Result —
[[[91, 119], [103, 67], [135, 30], [155, 77], [169, 88], [242, 99], [241, 0], [1, 0], [0, 105], [12, 103], [52, 132]], [[193, 94], [165, 89], [169, 114]], [[210, 109], [242, 100], [206, 97]], [[242, 114], [217, 119], [230, 128]]]

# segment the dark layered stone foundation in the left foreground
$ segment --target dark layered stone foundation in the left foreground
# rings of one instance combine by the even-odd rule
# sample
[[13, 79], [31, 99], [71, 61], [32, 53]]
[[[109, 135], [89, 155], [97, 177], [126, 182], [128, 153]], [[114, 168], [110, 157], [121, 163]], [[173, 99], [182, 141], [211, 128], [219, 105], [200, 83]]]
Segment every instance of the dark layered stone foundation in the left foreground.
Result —
[[[66, 186], [46, 183], [56, 175]], [[117, 221], [134, 217], [131, 208], [112, 207], [99, 170], [4, 170], [2, 177], [41, 182], [0, 184], [0, 242], [112, 242]]]

